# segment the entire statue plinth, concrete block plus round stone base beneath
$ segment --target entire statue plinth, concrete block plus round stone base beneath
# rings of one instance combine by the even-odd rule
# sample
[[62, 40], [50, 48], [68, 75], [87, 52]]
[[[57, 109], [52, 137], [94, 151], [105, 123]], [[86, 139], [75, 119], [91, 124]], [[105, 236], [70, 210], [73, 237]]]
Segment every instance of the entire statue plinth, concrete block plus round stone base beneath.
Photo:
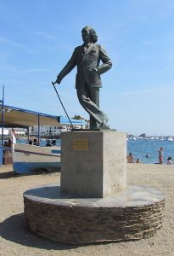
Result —
[[60, 186], [24, 194], [29, 229], [70, 244], [154, 236], [162, 225], [165, 198], [148, 187], [126, 188], [126, 135], [75, 131], [61, 138]]

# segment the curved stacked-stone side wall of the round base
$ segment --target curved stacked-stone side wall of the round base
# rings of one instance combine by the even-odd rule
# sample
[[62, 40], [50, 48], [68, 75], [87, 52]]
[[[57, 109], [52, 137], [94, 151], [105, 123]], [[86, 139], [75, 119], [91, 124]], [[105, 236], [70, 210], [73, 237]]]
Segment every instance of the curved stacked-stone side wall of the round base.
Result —
[[162, 225], [165, 200], [133, 207], [95, 207], [87, 201], [33, 201], [25, 196], [25, 217], [37, 235], [53, 241], [85, 244], [126, 241], [154, 236]]

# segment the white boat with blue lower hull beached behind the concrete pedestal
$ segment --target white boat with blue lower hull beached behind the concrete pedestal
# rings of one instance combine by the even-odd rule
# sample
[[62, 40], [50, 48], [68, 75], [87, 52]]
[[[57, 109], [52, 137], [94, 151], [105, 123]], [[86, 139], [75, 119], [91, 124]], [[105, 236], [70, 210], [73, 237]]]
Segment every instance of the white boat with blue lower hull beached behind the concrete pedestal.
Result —
[[30, 144], [14, 144], [14, 172], [30, 173], [36, 170], [58, 170], [60, 147], [40, 147]]

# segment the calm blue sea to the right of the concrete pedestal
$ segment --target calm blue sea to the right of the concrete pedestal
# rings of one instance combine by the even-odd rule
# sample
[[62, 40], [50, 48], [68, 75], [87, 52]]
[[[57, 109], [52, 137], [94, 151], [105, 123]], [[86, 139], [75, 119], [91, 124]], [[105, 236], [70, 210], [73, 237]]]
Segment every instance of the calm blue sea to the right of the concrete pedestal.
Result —
[[[129, 140], [127, 141], [127, 154], [131, 152], [134, 158], [141, 160], [142, 163], [154, 164], [159, 162], [158, 149], [160, 147], [164, 148], [164, 163], [169, 156], [174, 160], [174, 141], [168, 140]], [[149, 155], [149, 158], [146, 158], [146, 154]]]

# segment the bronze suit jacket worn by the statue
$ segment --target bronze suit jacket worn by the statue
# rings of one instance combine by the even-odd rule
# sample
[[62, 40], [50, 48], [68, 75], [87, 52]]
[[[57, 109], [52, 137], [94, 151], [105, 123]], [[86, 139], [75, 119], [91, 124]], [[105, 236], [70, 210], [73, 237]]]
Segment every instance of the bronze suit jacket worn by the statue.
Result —
[[[103, 62], [101, 65], [99, 65], [100, 61]], [[92, 87], [102, 87], [100, 75], [112, 67], [112, 62], [99, 44], [91, 44], [85, 52], [83, 45], [77, 46], [70, 61], [59, 73], [59, 78], [63, 79], [76, 66], [76, 89], [80, 88], [82, 83]], [[98, 73], [93, 71], [94, 67], [98, 68]]]

